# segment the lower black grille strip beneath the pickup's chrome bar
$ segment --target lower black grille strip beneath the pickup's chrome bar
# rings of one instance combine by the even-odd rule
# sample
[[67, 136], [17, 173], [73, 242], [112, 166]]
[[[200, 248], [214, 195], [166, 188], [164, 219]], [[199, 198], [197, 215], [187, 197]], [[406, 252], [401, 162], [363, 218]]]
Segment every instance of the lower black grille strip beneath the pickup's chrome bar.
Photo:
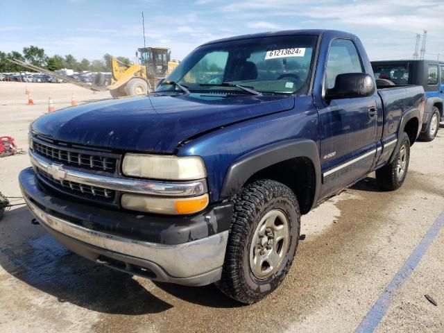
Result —
[[104, 202], [112, 202], [115, 197], [115, 191], [112, 189], [103, 189], [102, 187], [95, 187], [80, 184], [78, 182], [71, 182], [68, 180], [56, 180], [49, 173], [39, 169], [38, 174], [43, 180], [49, 182], [53, 187], [64, 191], [67, 194], [74, 194], [77, 196], [86, 197], [89, 199], [101, 200]]

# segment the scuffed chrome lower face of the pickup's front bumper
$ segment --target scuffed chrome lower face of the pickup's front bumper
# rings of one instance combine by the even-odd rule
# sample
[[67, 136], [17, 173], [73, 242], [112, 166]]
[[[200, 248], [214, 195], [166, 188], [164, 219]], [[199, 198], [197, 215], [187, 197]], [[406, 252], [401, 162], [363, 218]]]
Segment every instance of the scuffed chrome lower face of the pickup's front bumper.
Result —
[[[99, 264], [119, 269], [113, 264], [115, 261], [121, 262], [128, 268], [122, 268], [121, 271], [178, 284], [205, 285], [221, 278], [228, 231], [186, 244], [153, 244], [83, 228], [44, 212], [28, 198], [25, 200], [36, 219], [56, 239], [74, 252], [95, 259]], [[84, 255], [85, 251], [87, 255]], [[148, 268], [153, 276], [144, 275], [143, 268], [142, 271], [131, 270], [135, 266]]]

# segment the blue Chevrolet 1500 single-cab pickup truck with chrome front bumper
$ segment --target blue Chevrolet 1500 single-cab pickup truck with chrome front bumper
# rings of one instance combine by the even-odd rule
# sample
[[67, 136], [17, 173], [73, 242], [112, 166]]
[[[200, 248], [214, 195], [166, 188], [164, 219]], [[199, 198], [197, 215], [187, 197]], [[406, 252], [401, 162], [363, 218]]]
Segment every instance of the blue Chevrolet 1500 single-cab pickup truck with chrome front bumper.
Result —
[[382, 189], [402, 185], [424, 107], [420, 86], [377, 89], [350, 33], [232, 37], [149, 96], [34, 121], [19, 182], [75, 253], [253, 303], [289, 271], [301, 214], [372, 171]]

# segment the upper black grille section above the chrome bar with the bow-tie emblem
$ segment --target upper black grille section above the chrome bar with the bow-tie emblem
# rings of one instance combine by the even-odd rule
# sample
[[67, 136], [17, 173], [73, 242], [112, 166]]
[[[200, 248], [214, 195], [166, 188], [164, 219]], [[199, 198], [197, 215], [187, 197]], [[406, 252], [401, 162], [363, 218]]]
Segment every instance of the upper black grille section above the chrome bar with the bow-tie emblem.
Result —
[[90, 152], [80, 153], [80, 151], [64, 146], [52, 146], [36, 140], [33, 140], [33, 149], [35, 153], [49, 158], [49, 160], [62, 162], [65, 165], [110, 173], [116, 170], [117, 159], [105, 157], [100, 153], [97, 153], [97, 155]]

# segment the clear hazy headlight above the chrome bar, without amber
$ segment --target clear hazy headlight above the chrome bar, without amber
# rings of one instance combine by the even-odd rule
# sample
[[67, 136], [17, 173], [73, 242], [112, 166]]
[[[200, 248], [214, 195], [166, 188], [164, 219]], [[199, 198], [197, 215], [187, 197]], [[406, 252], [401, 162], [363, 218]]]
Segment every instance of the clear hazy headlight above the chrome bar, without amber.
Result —
[[126, 176], [161, 180], [196, 180], [207, 177], [203, 160], [197, 156], [128, 153], [123, 157], [122, 171]]

